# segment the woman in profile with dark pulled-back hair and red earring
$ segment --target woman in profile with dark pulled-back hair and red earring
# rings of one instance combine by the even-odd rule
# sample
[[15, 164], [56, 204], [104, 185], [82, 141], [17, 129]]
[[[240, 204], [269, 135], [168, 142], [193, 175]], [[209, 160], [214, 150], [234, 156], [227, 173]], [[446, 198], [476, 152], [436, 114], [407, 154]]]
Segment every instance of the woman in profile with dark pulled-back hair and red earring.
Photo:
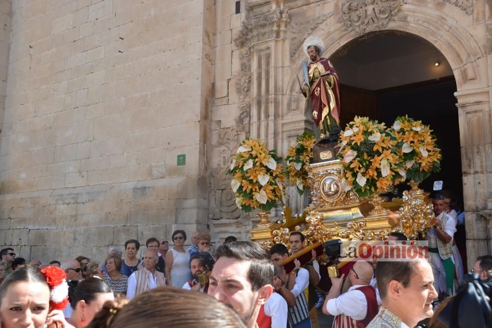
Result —
[[[71, 327], [84, 328], [108, 300], [114, 300], [113, 291], [103, 280], [92, 277], [71, 286], [69, 291], [72, 315], [68, 319]], [[68, 326], [70, 327], [70, 326]]]

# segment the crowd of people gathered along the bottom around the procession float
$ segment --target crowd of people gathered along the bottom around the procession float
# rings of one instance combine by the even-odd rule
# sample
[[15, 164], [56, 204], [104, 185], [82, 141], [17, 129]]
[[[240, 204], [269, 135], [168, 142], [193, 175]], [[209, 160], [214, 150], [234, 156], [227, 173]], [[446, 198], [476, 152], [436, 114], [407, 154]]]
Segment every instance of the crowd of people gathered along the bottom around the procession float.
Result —
[[[326, 268], [316, 261], [315, 251], [307, 253], [307, 240], [297, 231], [290, 234], [290, 250], [277, 243], [267, 251], [230, 236], [214, 251], [209, 234], [193, 233], [186, 248], [186, 233], [176, 230], [172, 248], [165, 238], [149, 238], [138, 257], [141, 244], [129, 239], [124, 250], [110, 247], [103, 263], [78, 256], [27, 264], [5, 248], [0, 251], [1, 327], [310, 328], [318, 326], [317, 307], [334, 316], [336, 328], [415, 327], [431, 317], [430, 327], [449, 327], [446, 306], [454, 302], [451, 312], [459, 312], [461, 299], [470, 301], [475, 289], [490, 299], [492, 256], [477, 259], [470, 270], [474, 280], [463, 279], [453, 244], [456, 212], [442, 194], [434, 196], [433, 206], [435, 219], [426, 236], [429, 259], [353, 261], [340, 276], [328, 278], [327, 292], [321, 288], [321, 269]], [[406, 236], [392, 233], [388, 240]], [[300, 256], [306, 254], [310, 260], [301, 265]], [[285, 265], [292, 255], [293, 268]], [[69, 303], [59, 309], [53, 307], [52, 278], [44, 273], [53, 266], [68, 286]], [[475, 294], [455, 297], [470, 286]], [[491, 312], [489, 301], [486, 305]]]

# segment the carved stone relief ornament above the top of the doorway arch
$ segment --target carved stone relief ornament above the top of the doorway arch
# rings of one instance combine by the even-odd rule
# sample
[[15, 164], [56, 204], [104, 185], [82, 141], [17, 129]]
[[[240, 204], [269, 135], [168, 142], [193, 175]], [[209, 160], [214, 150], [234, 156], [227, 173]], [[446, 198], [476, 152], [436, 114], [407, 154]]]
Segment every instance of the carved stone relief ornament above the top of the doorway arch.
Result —
[[382, 30], [395, 16], [403, 0], [345, 0], [342, 4], [342, 18], [345, 26], [357, 34]]

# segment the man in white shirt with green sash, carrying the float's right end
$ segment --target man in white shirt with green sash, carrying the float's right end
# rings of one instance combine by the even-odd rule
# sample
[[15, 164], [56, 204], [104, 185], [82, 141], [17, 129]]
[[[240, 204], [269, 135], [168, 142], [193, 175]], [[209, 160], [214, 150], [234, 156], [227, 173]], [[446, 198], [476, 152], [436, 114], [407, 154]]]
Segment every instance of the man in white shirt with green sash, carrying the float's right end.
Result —
[[433, 228], [427, 232], [429, 241], [431, 268], [434, 273], [434, 288], [437, 293], [453, 295], [455, 293], [455, 265], [453, 257], [453, 236], [456, 232], [456, 221], [446, 214], [444, 196], [436, 194], [432, 199], [434, 215]]

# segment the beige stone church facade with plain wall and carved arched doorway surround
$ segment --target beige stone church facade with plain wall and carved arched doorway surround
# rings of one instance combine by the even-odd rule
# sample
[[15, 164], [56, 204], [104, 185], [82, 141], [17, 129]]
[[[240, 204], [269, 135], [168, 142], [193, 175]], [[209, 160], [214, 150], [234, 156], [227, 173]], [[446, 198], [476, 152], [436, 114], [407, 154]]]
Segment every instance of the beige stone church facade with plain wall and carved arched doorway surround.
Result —
[[246, 239], [254, 215], [225, 171], [246, 136], [285, 154], [311, 127], [295, 78], [304, 38], [330, 57], [395, 30], [453, 70], [469, 263], [492, 252], [490, 1], [241, 0], [239, 14], [235, 2], [0, 1], [0, 244], [46, 261], [176, 228]]

